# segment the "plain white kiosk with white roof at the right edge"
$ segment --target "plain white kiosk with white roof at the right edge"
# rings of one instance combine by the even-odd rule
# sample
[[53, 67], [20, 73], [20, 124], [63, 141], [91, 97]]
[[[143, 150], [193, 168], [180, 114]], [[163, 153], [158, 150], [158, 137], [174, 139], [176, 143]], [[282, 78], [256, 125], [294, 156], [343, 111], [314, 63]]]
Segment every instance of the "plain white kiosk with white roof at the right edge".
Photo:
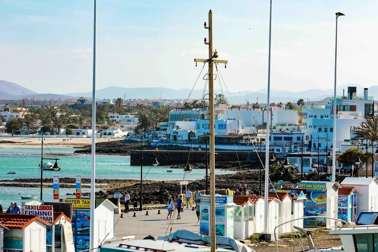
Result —
[[346, 177], [342, 186], [355, 187], [357, 194], [357, 216], [359, 212], [378, 211], [378, 181], [370, 177]]

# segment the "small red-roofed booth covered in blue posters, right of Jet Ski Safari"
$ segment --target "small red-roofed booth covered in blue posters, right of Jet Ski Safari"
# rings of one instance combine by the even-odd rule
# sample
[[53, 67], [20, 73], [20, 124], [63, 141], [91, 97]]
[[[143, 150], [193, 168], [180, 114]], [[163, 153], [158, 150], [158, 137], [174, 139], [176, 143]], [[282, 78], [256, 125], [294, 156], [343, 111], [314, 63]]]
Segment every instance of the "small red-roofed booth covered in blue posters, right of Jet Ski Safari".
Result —
[[355, 187], [342, 186], [339, 188], [337, 216], [346, 222], [355, 222], [357, 219], [357, 194]]

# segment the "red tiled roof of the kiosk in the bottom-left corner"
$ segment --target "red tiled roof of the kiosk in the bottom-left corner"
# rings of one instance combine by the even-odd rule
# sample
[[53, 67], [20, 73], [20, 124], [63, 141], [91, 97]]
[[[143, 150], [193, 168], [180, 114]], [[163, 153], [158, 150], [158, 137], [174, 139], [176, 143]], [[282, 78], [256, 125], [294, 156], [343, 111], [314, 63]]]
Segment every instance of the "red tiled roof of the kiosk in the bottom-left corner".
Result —
[[35, 215], [13, 215], [13, 214], [0, 214], [0, 222], [8, 229], [25, 229], [34, 221], [39, 221], [46, 226], [51, 226], [50, 223], [44, 221]]

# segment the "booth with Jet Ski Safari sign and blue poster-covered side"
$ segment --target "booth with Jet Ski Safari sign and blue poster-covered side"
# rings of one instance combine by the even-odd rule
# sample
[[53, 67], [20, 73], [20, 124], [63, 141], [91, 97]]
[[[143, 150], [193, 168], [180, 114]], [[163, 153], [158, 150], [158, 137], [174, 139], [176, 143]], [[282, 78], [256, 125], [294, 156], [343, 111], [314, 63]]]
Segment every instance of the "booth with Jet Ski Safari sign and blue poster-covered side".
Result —
[[304, 216], [313, 217], [303, 219], [304, 227], [334, 227], [335, 221], [327, 216], [337, 219], [338, 190], [341, 188], [337, 182], [302, 181], [298, 188], [306, 189], [304, 201]]

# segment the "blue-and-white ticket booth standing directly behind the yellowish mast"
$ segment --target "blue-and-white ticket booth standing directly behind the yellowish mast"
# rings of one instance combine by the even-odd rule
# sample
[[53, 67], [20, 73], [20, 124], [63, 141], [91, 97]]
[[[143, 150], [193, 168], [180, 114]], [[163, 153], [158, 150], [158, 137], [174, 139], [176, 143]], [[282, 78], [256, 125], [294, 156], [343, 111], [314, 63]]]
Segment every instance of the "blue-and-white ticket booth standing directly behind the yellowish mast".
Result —
[[[200, 197], [200, 234], [209, 235], [210, 196]], [[234, 196], [215, 194], [215, 235], [234, 238]]]

